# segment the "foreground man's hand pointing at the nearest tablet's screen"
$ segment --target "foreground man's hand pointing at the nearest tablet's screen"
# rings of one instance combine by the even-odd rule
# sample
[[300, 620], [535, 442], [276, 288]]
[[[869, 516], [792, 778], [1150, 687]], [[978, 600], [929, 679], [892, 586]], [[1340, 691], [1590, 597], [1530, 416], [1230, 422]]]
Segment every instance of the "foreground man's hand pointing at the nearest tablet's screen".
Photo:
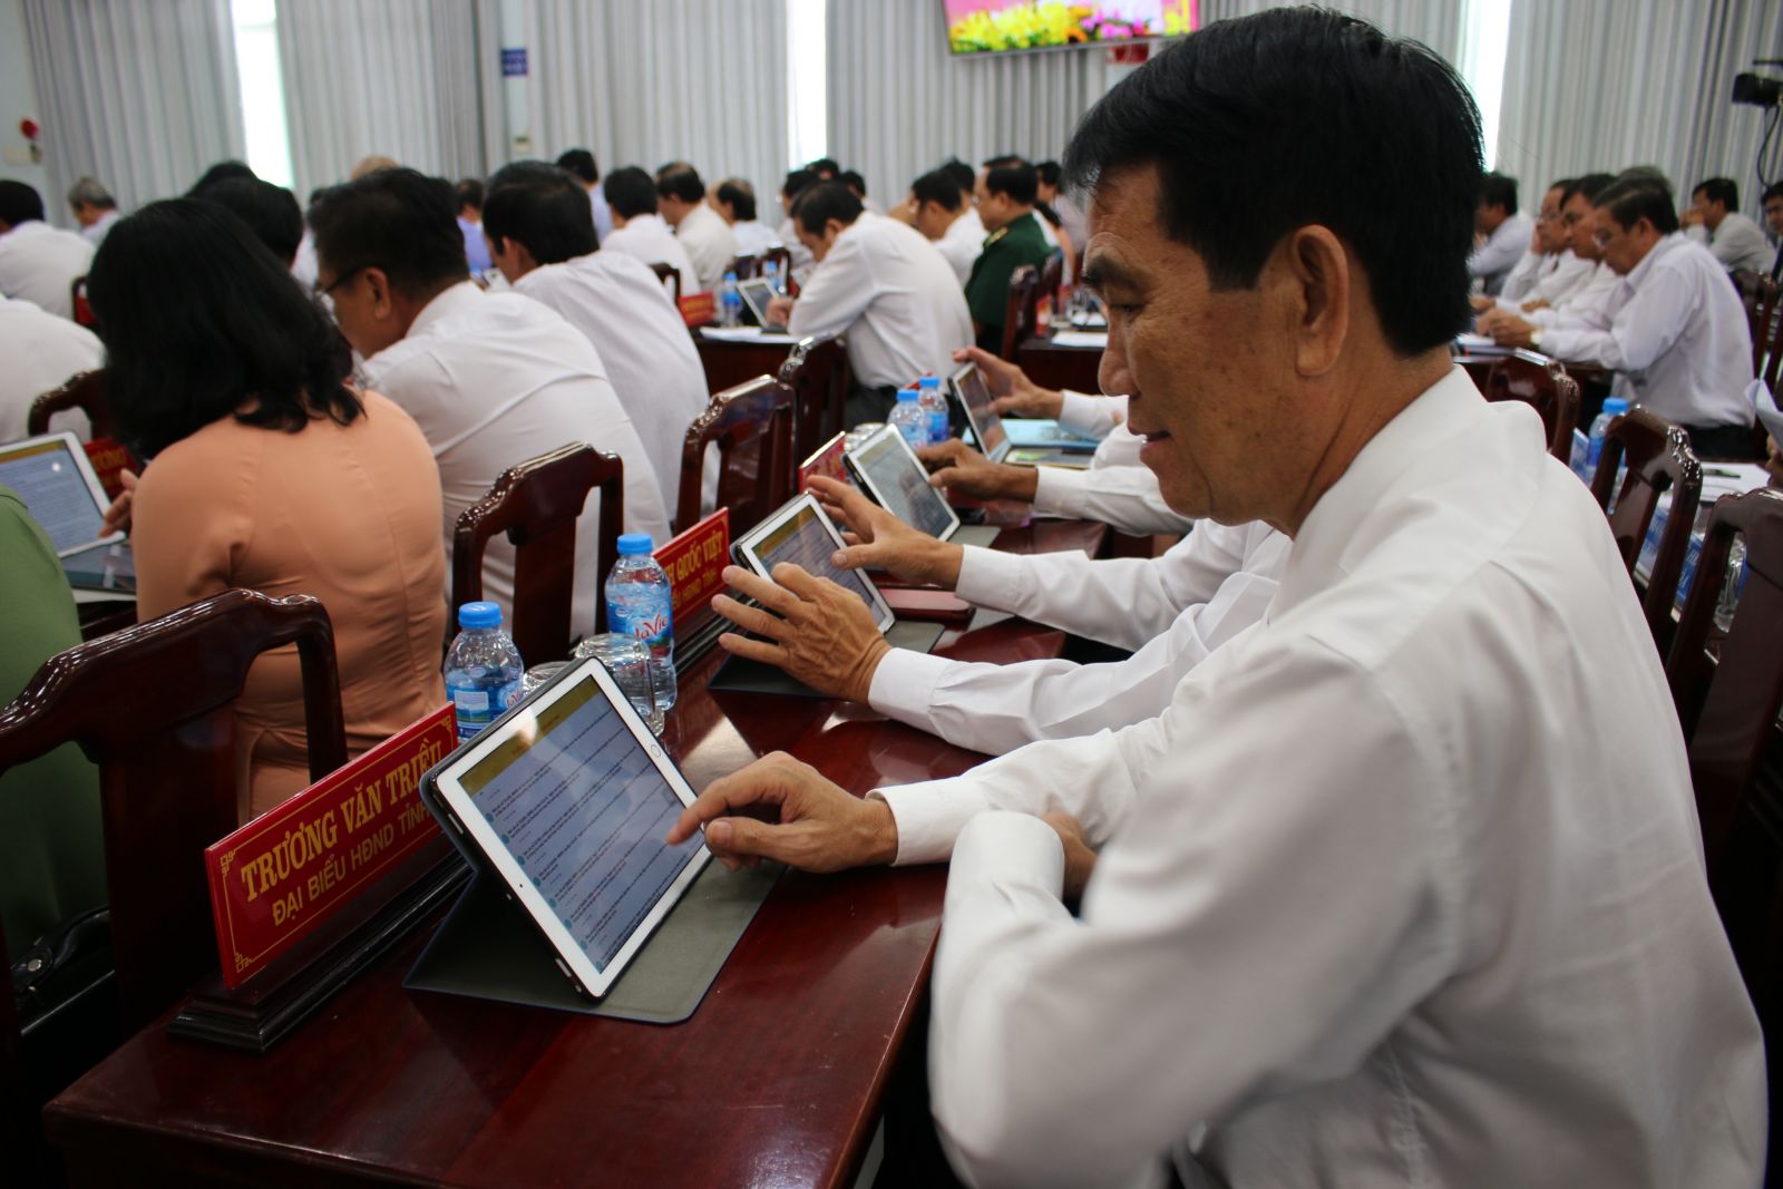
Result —
[[[740, 813], [751, 816], [735, 816]], [[686, 841], [699, 827], [706, 829], [706, 849], [733, 872], [761, 859], [802, 872], [897, 859], [897, 818], [886, 802], [854, 797], [786, 752], [713, 781], [676, 818], [669, 845]]]

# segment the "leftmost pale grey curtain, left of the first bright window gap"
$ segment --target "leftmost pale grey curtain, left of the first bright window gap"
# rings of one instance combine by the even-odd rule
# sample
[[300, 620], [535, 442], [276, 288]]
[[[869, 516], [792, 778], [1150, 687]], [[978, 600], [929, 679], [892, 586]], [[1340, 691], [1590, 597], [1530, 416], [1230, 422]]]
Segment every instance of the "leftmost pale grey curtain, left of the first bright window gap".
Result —
[[185, 193], [246, 152], [228, 0], [23, 0], [37, 77], [50, 221], [103, 182], [130, 210]]

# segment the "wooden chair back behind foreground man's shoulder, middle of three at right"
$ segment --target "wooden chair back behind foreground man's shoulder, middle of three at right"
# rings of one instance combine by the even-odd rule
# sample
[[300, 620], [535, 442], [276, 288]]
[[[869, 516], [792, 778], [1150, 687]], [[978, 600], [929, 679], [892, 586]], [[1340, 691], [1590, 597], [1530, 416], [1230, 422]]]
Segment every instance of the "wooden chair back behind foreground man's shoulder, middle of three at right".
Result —
[[[1628, 458], [1628, 478], [1621, 492], [1615, 487], [1615, 471], [1623, 458]], [[1690, 439], [1683, 430], [1660, 421], [1653, 414], [1635, 408], [1610, 422], [1603, 435], [1603, 453], [1598, 456], [1598, 472], [1590, 480], [1590, 494], [1598, 497], [1598, 506], [1610, 515], [1610, 533], [1615, 535], [1615, 547], [1628, 563], [1628, 572], [1635, 572], [1640, 558], [1640, 545], [1646, 542], [1647, 526], [1658, 508], [1660, 494], [1671, 490], [1671, 512], [1665, 513], [1665, 531], [1660, 535], [1660, 551], [1653, 560], [1653, 572], [1647, 576], [1647, 594], [1642, 601], [1647, 627], [1660, 652], [1672, 638], [1672, 604], [1678, 594], [1678, 579], [1683, 574], [1683, 558], [1690, 547], [1690, 529], [1696, 524], [1696, 506], [1703, 496], [1703, 467], [1690, 449]], [[1610, 510], [1610, 497], [1615, 496], [1615, 508]]]

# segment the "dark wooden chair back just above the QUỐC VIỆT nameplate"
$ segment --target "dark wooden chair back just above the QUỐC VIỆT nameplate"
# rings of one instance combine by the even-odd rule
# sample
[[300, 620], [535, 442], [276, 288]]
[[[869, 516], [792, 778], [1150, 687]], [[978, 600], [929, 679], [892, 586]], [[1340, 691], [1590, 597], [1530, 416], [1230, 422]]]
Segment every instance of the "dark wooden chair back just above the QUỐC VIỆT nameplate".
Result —
[[[731, 537], [752, 529], [797, 490], [792, 453], [793, 396], [779, 380], [758, 376], [711, 398], [681, 446], [681, 494], [674, 531], [699, 522], [706, 447], [719, 444], [719, 506], [731, 510]], [[524, 652], [522, 652], [524, 656]]]

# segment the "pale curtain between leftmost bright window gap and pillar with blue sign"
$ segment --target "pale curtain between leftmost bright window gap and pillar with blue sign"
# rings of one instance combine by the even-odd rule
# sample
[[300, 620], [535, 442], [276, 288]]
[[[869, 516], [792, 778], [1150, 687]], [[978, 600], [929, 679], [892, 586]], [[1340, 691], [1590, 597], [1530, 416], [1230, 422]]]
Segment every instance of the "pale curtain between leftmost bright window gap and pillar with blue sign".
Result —
[[362, 157], [483, 176], [474, 0], [278, 0], [298, 200]]

